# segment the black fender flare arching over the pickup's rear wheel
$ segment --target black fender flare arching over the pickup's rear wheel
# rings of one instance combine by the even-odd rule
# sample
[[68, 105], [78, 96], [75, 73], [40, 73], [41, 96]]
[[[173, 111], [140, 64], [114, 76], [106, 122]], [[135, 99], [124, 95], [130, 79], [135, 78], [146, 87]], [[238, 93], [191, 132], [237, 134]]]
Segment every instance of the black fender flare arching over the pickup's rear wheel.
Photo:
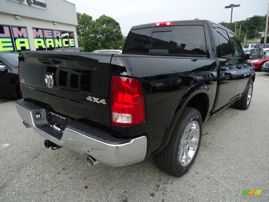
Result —
[[[196, 95], [203, 93], [206, 94], [208, 97], [208, 102], [209, 102], [209, 97], [210, 97], [210, 93], [209, 93], [209, 88], [206, 84], [204, 83], [197, 83], [194, 86], [190, 87], [189, 89], [187, 89], [185, 91], [185, 93], [180, 97], [174, 112], [169, 120], [169, 123], [166, 127], [165, 133], [164, 133], [164, 137], [162, 139], [161, 145], [160, 147], [154, 151], [154, 153], [158, 153], [160, 151], [162, 151], [164, 149], [164, 147], [168, 144], [172, 132], [175, 128], [175, 125], [184, 109], [184, 107], [187, 105], [187, 103]], [[208, 112], [208, 107], [206, 109], [206, 111]]]

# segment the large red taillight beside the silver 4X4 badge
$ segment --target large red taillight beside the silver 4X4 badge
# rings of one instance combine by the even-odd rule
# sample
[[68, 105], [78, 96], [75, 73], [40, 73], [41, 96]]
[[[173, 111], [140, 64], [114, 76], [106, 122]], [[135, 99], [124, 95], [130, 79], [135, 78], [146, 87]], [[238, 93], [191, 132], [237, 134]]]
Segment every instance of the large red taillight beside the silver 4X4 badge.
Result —
[[145, 122], [145, 105], [138, 79], [111, 76], [111, 123], [117, 126], [135, 126]]

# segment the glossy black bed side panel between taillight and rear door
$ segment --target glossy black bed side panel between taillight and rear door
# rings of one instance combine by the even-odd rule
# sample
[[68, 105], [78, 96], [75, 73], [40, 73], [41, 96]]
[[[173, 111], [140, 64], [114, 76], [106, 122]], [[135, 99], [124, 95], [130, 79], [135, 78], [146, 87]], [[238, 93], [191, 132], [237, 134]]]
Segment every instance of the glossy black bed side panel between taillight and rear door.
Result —
[[[136, 127], [117, 127], [112, 125], [112, 128], [116, 131], [121, 131], [122, 134], [134, 136], [144, 133], [148, 137], [148, 152], [153, 152], [160, 147], [168, 123], [172, 114], [176, 111], [179, 100], [188, 91], [191, 96], [193, 91], [198, 90], [195, 88], [201, 86], [201, 83], [196, 83], [191, 87], [188, 82], [183, 82], [182, 85], [179, 83], [178, 86], [173, 85], [171, 88], [164, 87], [163, 89], [151, 91], [149, 86], [156, 83], [156, 81], [151, 82], [152, 79], [158, 78], [160, 75], [166, 75], [167, 78], [171, 78], [171, 82], [177, 79], [183, 81], [182, 75], [186, 72], [211, 71], [215, 68], [215, 59], [208, 58], [114, 55], [111, 61], [112, 75], [138, 78], [143, 85], [146, 123]], [[210, 103], [209, 109], [212, 109], [217, 91], [217, 80], [206, 82], [205, 86], [208, 86], [208, 90], [204, 91], [207, 91]]]

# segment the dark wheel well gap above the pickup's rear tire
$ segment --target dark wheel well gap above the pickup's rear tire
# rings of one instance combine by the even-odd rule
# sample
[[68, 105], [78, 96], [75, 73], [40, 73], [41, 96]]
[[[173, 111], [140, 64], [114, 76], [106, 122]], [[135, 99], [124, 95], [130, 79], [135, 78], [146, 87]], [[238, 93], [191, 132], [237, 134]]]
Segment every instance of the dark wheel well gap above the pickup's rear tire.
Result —
[[190, 99], [186, 106], [197, 109], [200, 112], [202, 120], [204, 122], [207, 116], [208, 104], [208, 96], [205, 93], [199, 93], [192, 97], [192, 99]]

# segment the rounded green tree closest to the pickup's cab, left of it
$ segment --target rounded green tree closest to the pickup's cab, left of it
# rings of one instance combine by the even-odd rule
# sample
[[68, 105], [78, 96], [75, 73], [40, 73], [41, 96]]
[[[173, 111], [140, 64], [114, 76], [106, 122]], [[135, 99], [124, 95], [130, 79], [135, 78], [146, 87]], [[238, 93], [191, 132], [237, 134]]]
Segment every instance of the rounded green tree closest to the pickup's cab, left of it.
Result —
[[94, 33], [98, 42], [96, 49], [122, 49], [124, 41], [119, 23], [102, 15], [95, 20]]

